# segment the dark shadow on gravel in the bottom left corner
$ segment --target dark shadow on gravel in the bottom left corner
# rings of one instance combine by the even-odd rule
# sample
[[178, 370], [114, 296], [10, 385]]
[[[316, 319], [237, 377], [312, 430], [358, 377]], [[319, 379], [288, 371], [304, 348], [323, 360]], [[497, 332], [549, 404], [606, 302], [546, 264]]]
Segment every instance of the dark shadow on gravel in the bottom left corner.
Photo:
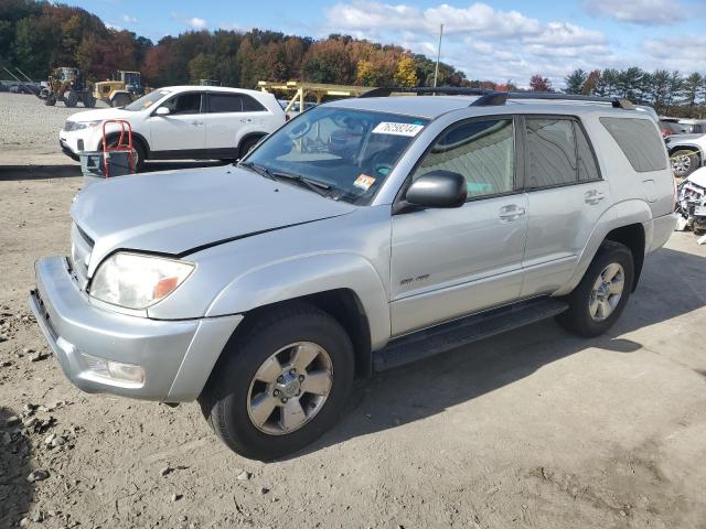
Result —
[[19, 527], [34, 498], [33, 485], [26, 481], [32, 446], [18, 425], [6, 425], [11, 417], [19, 413], [0, 406], [0, 527]]

